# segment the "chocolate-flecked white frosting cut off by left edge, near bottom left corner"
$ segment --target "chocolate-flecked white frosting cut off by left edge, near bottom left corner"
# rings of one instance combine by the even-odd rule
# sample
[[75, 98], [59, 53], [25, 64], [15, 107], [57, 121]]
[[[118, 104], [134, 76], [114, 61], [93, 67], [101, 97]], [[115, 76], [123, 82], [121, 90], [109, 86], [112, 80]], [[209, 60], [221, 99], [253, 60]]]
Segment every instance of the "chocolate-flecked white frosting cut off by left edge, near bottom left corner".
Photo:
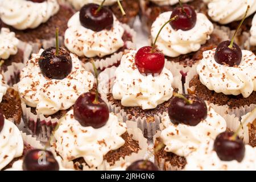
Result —
[[4, 168], [14, 158], [22, 156], [22, 135], [13, 122], [5, 119], [2, 131], [0, 131], [0, 169]]

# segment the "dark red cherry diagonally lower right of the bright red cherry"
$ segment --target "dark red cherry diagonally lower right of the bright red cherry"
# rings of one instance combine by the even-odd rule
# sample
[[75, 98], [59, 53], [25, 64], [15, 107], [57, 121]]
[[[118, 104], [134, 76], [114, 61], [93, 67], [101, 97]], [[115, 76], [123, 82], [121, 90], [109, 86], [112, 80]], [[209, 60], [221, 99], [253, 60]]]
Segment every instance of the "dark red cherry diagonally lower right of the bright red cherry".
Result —
[[168, 114], [174, 124], [196, 126], [207, 117], [207, 105], [195, 95], [175, 94], [168, 106]]

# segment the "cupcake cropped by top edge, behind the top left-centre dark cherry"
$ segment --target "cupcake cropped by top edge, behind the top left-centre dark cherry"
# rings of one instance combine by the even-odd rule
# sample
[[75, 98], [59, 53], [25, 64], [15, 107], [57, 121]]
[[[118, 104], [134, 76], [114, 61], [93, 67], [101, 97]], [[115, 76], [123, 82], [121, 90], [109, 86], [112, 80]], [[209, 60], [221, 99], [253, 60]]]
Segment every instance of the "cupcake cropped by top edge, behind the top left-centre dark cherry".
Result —
[[[66, 0], [71, 3], [76, 10], [80, 10], [82, 6], [89, 3], [96, 3], [97, 5], [101, 5], [102, 0]], [[117, 0], [106, 0], [104, 2], [104, 6], [108, 7], [114, 15], [117, 17], [119, 22], [129, 24], [129, 26], [133, 26], [134, 20], [139, 13], [139, 1], [138, 0], [122, 0], [121, 5], [123, 9], [126, 11], [126, 16], [123, 16], [120, 8], [118, 6]]]

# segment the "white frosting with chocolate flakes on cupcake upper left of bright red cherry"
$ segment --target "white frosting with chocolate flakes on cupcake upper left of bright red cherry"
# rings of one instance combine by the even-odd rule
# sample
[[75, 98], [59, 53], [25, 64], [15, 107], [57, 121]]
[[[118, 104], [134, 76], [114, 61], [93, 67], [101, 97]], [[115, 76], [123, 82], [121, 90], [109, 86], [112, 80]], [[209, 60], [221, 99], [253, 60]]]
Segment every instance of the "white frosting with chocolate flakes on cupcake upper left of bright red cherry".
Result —
[[69, 51], [78, 56], [103, 57], [125, 45], [122, 40], [125, 30], [115, 16], [110, 30], [95, 32], [81, 25], [79, 14], [77, 12], [69, 19], [65, 32], [65, 46]]

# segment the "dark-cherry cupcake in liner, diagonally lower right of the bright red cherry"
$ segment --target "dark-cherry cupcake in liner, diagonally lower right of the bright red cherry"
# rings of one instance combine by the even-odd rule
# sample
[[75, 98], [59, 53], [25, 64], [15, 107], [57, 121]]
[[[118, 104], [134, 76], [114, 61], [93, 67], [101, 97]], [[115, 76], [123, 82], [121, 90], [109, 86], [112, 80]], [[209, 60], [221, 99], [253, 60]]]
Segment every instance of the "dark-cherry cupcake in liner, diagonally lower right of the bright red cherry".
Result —
[[154, 136], [155, 163], [161, 170], [181, 170], [186, 157], [226, 130], [225, 119], [194, 95], [171, 99], [161, 131]]

